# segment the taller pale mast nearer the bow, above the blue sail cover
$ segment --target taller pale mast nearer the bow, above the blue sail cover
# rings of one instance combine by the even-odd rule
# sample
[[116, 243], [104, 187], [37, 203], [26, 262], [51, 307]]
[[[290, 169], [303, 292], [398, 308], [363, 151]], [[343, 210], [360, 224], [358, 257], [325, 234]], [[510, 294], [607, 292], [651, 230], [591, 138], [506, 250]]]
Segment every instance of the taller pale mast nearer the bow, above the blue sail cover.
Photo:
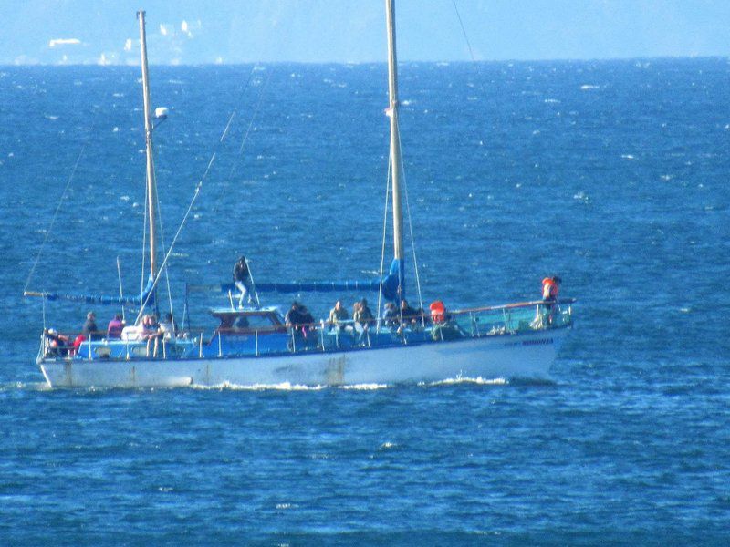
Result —
[[[403, 212], [401, 200], [401, 135], [398, 132], [398, 60], [395, 55], [395, 0], [385, 0], [388, 26], [388, 92], [391, 119], [391, 171], [393, 182], [393, 258], [403, 260]], [[402, 280], [399, 279], [399, 285]]]

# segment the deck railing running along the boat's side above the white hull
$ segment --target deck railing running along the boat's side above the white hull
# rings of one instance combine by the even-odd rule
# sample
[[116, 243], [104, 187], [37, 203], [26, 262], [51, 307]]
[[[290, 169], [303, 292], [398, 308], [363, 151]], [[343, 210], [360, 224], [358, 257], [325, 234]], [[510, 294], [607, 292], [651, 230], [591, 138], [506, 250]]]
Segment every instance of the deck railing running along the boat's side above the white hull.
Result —
[[[373, 318], [367, 325], [352, 319], [338, 322], [319, 321], [308, 325], [287, 325], [286, 329], [218, 328], [205, 341], [203, 331], [193, 329], [176, 333], [172, 338], [158, 338], [156, 358], [210, 358], [232, 355], [261, 356], [281, 353], [336, 351], [372, 346], [395, 346], [422, 342], [439, 342], [459, 338], [493, 335], [516, 335], [572, 325], [574, 299], [558, 302], [542, 300], [447, 311], [443, 320], [429, 314], [393, 319]], [[96, 337], [73, 345], [76, 335], [46, 332], [41, 336], [39, 356], [45, 358], [130, 359], [148, 355], [148, 340], [122, 341]], [[58, 345], [58, 340], [63, 341]], [[119, 343], [124, 346], [119, 351]], [[117, 354], [111, 347], [117, 348]]]

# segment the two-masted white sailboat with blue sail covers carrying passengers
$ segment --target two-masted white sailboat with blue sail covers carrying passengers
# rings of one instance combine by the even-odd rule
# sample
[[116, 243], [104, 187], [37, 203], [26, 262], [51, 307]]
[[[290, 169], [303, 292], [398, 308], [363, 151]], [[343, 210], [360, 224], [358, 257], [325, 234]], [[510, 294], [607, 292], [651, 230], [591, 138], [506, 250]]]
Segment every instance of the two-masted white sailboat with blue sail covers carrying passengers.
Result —
[[[256, 291], [378, 292], [398, 309], [405, 297], [401, 198], [401, 142], [394, 0], [386, 0], [391, 145], [393, 261], [388, 274], [366, 282], [259, 284]], [[160, 279], [155, 227], [156, 181], [152, 146], [145, 13], [140, 26], [141, 77], [147, 160], [150, 279], [137, 297], [83, 297], [26, 291], [46, 301], [69, 298], [139, 308], [136, 326], [121, 336], [60, 335], [44, 329], [36, 362], [51, 387], [343, 386], [431, 383], [453, 378], [546, 377], [573, 325], [573, 300], [446, 310], [388, 319], [292, 325], [276, 306], [215, 308], [220, 322], [212, 335], [157, 330], [145, 335], [145, 309], [155, 307]], [[163, 114], [163, 113], [162, 113]], [[220, 290], [231, 287], [220, 285]], [[125, 329], [126, 330], [126, 329]], [[151, 341], [154, 348], [151, 348]]]

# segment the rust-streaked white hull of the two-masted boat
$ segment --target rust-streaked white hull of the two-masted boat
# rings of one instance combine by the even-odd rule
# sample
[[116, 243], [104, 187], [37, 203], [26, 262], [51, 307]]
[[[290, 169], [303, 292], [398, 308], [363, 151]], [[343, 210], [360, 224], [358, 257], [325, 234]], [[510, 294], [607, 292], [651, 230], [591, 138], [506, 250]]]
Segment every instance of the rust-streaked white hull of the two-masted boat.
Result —
[[191, 360], [41, 361], [51, 387], [408, 384], [455, 377], [547, 377], [568, 328], [418, 346]]

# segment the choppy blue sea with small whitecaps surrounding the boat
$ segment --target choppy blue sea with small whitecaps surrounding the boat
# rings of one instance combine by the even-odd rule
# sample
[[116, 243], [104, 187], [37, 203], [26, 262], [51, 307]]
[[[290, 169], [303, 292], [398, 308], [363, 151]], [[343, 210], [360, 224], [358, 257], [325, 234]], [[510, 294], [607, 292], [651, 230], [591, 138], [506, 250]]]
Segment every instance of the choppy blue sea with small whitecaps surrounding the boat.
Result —
[[[141, 83], [0, 67], [0, 544], [730, 543], [728, 59], [406, 63], [400, 84], [411, 300], [414, 262], [453, 308], [560, 275], [579, 303], [547, 381], [48, 389], [41, 329], [89, 307], [24, 289], [118, 294], [117, 258], [141, 288]], [[241, 253], [260, 281], [380, 271], [384, 65], [151, 67], [151, 97], [165, 245], [202, 181], [177, 317]], [[297, 295], [316, 316], [336, 296]], [[191, 325], [226, 303], [191, 294]]]

